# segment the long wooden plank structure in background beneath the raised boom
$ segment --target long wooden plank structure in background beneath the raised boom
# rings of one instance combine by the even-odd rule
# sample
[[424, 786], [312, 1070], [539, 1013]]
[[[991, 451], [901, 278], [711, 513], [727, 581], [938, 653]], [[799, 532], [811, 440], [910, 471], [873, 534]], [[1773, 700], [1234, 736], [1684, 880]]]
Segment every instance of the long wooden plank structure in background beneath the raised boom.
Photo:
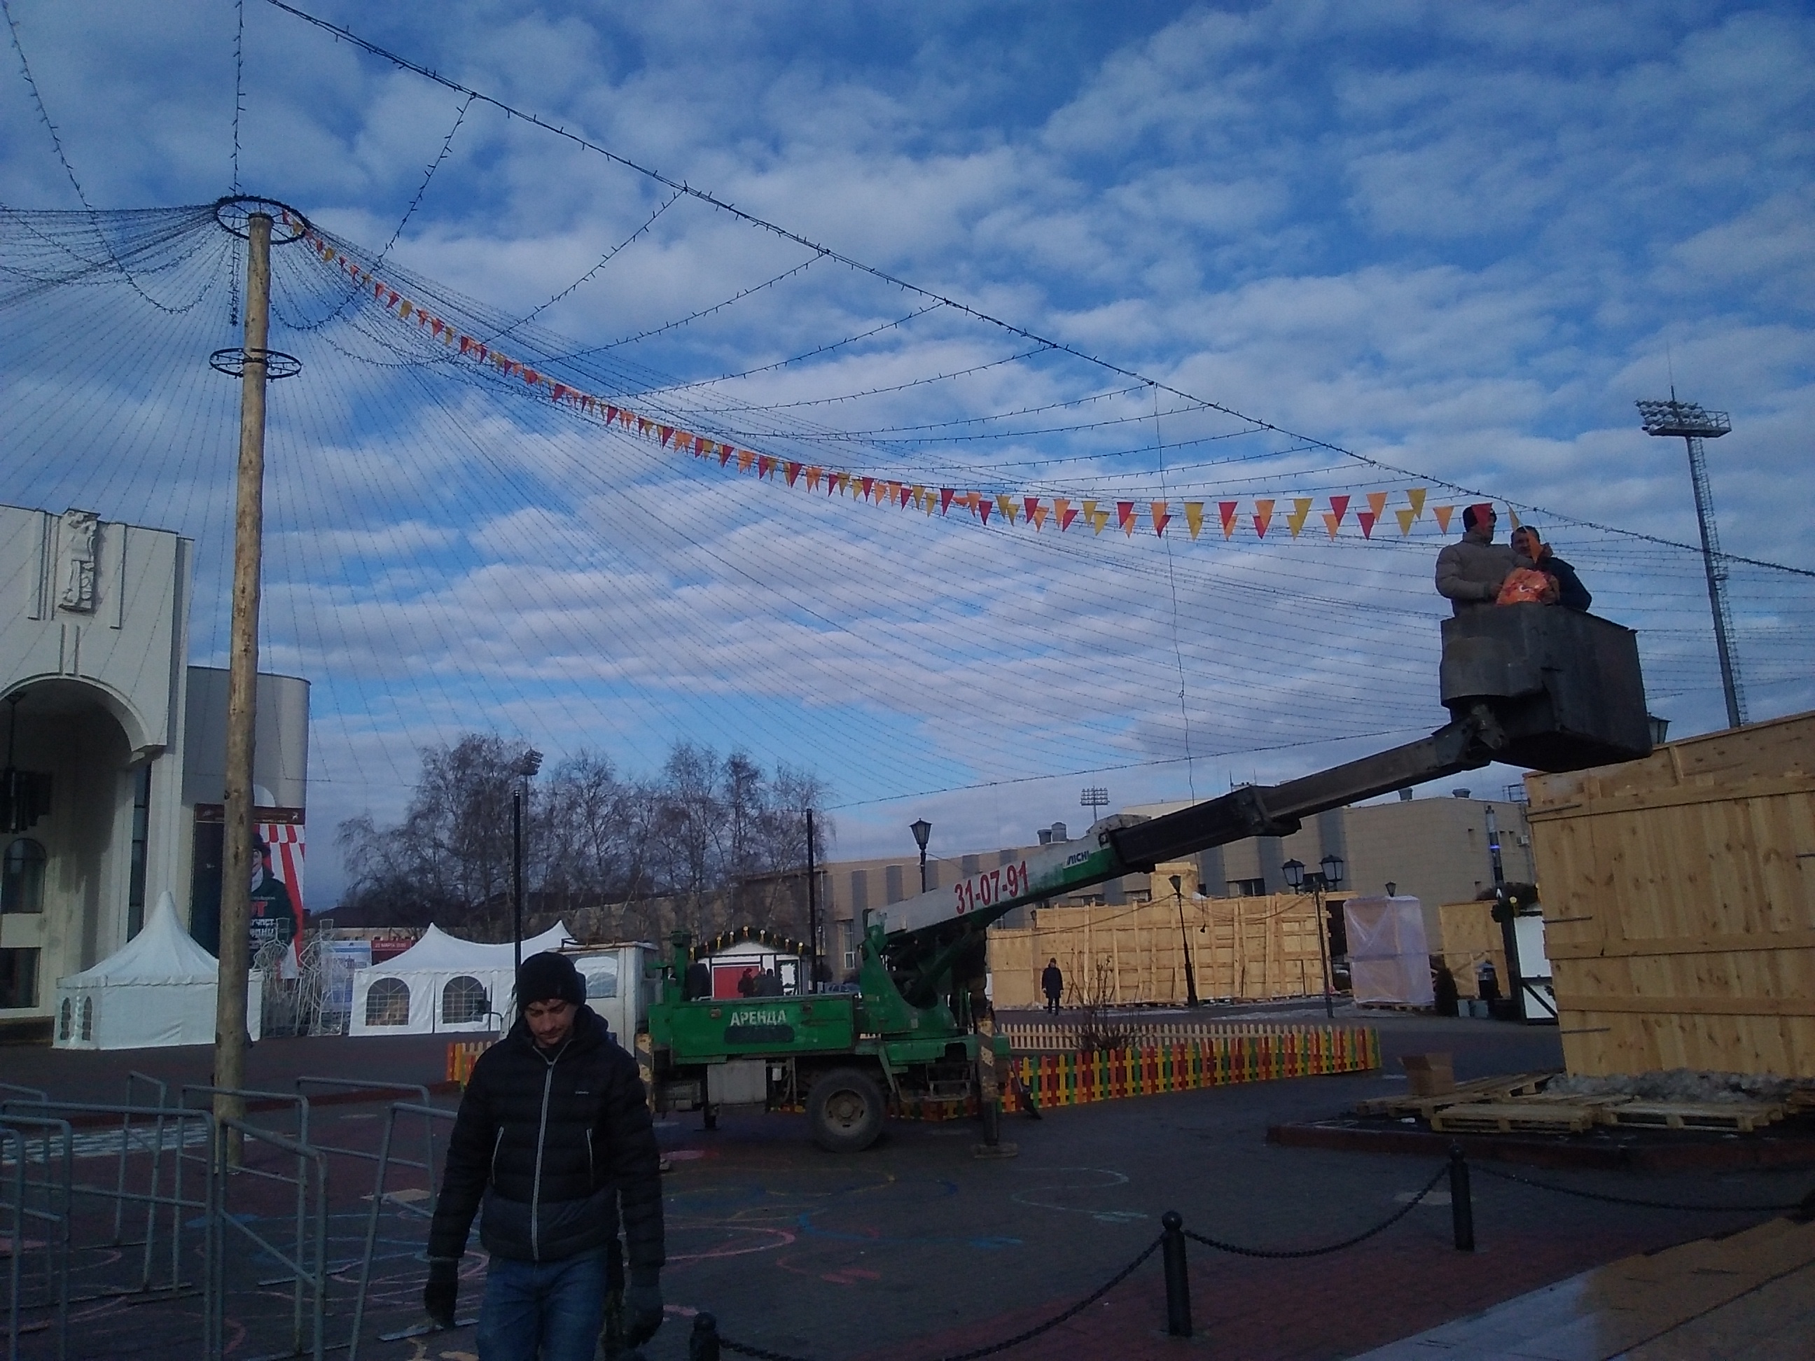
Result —
[[[1165, 866], [1162, 866], [1165, 869]], [[1165, 878], [1156, 875], [1156, 882]], [[1185, 1002], [1185, 940], [1200, 998], [1321, 996], [1316, 906], [1309, 896], [1183, 898], [1100, 907], [1036, 907], [1031, 925], [991, 927], [991, 996], [998, 1007], [1038, 1007], [1040, 971], [1058, 960], [1065, 1005], [1094, 989], [1098, 962], [1111, 1005]]]

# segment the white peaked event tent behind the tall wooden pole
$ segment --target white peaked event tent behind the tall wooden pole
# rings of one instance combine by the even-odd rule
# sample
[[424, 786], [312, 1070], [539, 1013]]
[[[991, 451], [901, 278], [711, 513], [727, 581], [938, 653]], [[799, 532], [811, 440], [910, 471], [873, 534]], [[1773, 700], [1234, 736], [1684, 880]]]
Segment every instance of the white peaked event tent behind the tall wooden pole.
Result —
[[[220, 965], [176, 920], [176, 900], [158, 895], [151, 920], [100, 964], [56, 980], [58, 1049], [160, 1049], [214, 1043]], [[263, 1013], [263, 976], [247, 987], [252, 1038]]]

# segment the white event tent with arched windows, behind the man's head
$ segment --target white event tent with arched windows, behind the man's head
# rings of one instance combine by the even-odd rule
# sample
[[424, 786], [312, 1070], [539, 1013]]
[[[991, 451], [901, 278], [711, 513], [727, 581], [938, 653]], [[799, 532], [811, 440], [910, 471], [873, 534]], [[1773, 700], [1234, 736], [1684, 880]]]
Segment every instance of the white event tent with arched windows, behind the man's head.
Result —
[[[523, 958], [570, 942], [555, 922], [523, 942]], [[508, 1029], [515, 945], [481, 945], [430, 925], [383, 964], [354, 971], [348, 1034], [441, 1034]]]

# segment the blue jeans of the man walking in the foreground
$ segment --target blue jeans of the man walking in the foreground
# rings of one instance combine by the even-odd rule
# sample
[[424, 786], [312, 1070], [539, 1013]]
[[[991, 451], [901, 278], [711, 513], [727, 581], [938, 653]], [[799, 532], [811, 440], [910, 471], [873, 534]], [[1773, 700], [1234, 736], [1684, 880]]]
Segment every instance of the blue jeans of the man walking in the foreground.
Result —
[[592, 1361], [603, 1323], [603, 1247], [561, 1261], [492, 1258], [479, 1361]]

